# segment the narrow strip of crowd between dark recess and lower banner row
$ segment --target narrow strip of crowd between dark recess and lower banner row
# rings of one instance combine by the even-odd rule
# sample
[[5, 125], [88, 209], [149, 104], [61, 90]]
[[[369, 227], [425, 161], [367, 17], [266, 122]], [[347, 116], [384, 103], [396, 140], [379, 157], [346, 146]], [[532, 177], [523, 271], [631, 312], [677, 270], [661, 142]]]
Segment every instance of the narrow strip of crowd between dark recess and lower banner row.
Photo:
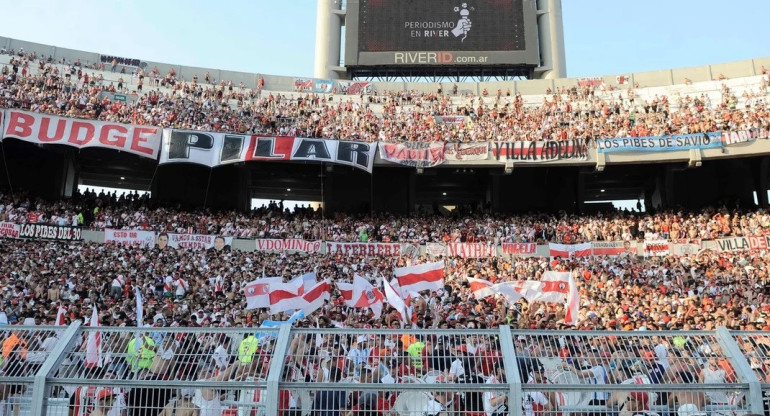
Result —
[[762, 235], [770, 229], [764, 209], [617, 211], [595, 215], [388, 214], [326, 217], [322, 210], [283, 208], [272, 201], [249, 212], [215, 212], [156, 207], [148, 194], [79, 191], [69, 200], [46, 202], [19, 193], [0, 194], [0, 221], [210, 234], [238, 238], [298, 238], [341, 242], [449, 243], [713, 240]]

